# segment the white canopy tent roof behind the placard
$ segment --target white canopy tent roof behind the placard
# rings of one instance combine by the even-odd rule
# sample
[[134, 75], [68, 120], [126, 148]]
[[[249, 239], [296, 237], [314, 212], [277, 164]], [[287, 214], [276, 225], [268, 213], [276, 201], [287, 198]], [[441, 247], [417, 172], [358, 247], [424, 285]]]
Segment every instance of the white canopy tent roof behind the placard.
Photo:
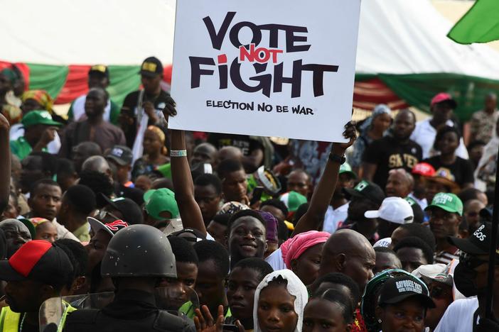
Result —
[[[174, 0], [0, 0], [0, 60], [50, 65], [171, 63]], [[499, 79], [499, 52], [458, 45], [430, 0], [363, 0], [357, 72]]]

